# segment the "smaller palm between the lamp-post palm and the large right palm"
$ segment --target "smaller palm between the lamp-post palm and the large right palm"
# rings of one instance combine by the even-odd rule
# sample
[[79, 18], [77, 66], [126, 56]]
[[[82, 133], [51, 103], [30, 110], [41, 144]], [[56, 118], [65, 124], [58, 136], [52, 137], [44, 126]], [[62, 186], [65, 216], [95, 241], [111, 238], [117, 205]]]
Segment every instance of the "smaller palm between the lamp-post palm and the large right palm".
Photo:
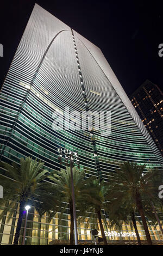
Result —
[[[106, 184], [104, 180], [102, 180], [101, 182], [99, 182], [99, 180], [93, 180], [89, 184], [87, 184], [86, 189], [87, 191], [89, 191], [89, 194], [87, 195], [85, 200], [80, 202], [80, 214], [84, 216], [84, 212], [87, 209], [87, 211], [92, 213], [90, 215], [90, 220], [92, 220], [92, 217], [96, 218], [97, 216], [104, 245], [107, 245], [108, 243], [106, 241], [106, 236], [102, 223], [102, 210], [108, 209], [108, 202], [106, 202], [105, 200], [105, 196], [108, 191], [108, 184]], [[103, 221], [105, 222], [104, 216]]]

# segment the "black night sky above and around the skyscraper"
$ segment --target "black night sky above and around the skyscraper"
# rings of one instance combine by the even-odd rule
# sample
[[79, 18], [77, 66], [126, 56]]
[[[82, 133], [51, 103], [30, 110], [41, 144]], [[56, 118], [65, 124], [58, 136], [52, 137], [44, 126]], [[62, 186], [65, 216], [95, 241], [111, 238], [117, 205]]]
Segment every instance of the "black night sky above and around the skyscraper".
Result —
[[[146, 79], [163, 90], [163, 4], [161, 1], [37, 1], [101, 48], [128, 96]], [[1, 2], [0, 84], [7, 74], [35, 1]]]

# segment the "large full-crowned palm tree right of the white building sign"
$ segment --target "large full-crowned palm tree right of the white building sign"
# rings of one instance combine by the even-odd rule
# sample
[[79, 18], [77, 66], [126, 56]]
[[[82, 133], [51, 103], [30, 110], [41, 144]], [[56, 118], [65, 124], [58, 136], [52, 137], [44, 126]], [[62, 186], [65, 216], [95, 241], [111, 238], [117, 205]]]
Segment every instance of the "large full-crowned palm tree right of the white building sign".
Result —
[[134, 200], [141, 216], [148, 245], [152, 245], [143, 205], [145, 202], [149, 203], [149, 200], [154, 197], [153, 178], [158, 173], [156, 170], [145, 172], [145, 168], [145, 164], [138, 165], [135, 162], [124, 162], [121, 164], [120, 169], [112, 173], [110, 189], [114, 191], [114, 197], [116, 198], [121, 197], [123, 200], [128, 196], [130, 202]]

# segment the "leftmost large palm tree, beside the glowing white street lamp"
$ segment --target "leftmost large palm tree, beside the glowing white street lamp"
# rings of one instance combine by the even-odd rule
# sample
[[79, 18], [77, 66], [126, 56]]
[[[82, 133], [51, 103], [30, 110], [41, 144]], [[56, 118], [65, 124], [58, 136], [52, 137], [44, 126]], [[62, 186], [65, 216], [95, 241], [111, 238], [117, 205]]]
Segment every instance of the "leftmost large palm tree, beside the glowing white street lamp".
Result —
[[47, 170], [43, 169], [43, 164], [30, 157], [21, 158], [20, 165], [14, 162], [12, 164], [1, 163], [1, 166], [8, 171], [8, 178], [1, 175], [1, 184], [4, 188], [4, 198], [1, 202], [3, 205], [8, 202], [8, 206], [4, 208], [0, 219], [9, 211], [9, 221], [15, 212], [16, 204], [20, 203], [14, 245], [18, 245], [24, 206], [27, 202], [49, 213], [54, 210], [51, 206], [55, 202], [54, 186], [49, 182], [43, 182], [48, 176]]

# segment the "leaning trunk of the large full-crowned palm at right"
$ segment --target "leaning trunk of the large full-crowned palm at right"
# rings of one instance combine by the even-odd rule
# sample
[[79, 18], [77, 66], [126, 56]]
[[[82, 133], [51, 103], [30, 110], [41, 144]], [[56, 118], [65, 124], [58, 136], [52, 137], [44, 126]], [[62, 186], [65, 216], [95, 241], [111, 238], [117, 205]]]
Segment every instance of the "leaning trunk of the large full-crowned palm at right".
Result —
[[148, 245], [152, 245], [152, 240], [151, 240], [151, 236], [149, 234], [149, 230], [148, 230], [148, 226], [147, 226], [147, 222], [146, 222], [146, 217], [145, 217], [145, 213], [143, 211], [143, 206], [142, 206], [142, 203], [141, 203], [141, 197], [140, 197], [139, 192], [136, 193], [136, 198], [135, 199], [136, 199], [136, 206], [137, 206], [137, 209], [139, 210], [141, 220], [142, 220], [142, 223], [143, 223], [143, 227], [145, 229]]

